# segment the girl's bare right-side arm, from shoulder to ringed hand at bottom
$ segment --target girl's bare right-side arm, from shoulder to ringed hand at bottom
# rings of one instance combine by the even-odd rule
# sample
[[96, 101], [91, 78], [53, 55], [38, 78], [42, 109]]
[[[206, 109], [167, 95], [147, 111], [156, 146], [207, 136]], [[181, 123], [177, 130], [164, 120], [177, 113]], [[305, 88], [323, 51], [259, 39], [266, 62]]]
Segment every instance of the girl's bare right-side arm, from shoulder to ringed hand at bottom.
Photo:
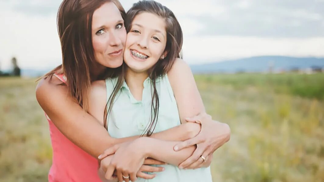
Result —
[[[187, 117], [193, 117], [198, 113], [204, 112], [205, 109], [203, 102], [190, 67], [184, 63], [183, 60], [176, 60], [171, 70], [168, 72], [168, 78], [178, 104], [181, 123], [186, 123]], [[203, 120], [206, 119], [210, 120], [209, 118], [203, 118]], [[146, 157], [152, 157], [169, 164], [179, 165], [181, 161], [188, 159], [188, 157], [191, 159], [193, 152], [197, 151], [195, 150], [195, 146], [191, 145], [190, 147], [176, 152], [173, 150], [175, 144], [177, 144], [177, 142], [163, 141], [153, 138], [139, 138], [128, 144], [115, 145], [114, 147], [107, 149], [103, 154], [103, 156], [114, 154], [110, 165], [107, 167], [106, 178], [110, 178], [112, 172], [116, 169], [117, 173], [129, 174], [131, 179], [135, 179], [135, 175], [129, 172], [138, 169]], [[200, 144], [197, 145], [197, 148], [198, 147], [200, 150], [204, 148], [204, 146], [200, 146]], [[124, 160], [125, 156], [132, 156], [132, 160]], [[203, 158], [200, 157], [199, 159], [201, 159], [199, 160], [199, 164], [195, 163], [194, 167], [203, 166]], [[207, 161], [208, 165], [210, 165], [210, 159], [211, 157], [209, 157], [209, 160]], [[179, 167], [182, 168], [183, 166]]]

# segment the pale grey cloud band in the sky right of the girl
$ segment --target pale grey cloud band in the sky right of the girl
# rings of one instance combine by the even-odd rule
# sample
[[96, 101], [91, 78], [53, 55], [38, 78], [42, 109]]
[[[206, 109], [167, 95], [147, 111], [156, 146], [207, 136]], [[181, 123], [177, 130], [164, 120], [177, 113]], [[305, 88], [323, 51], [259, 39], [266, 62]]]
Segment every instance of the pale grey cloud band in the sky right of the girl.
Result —
[[199, 35], [306, 38], [324, 36], [324, 1], [217, 1], [226, 11], [212, 16], [188, 14], [203, 24]]

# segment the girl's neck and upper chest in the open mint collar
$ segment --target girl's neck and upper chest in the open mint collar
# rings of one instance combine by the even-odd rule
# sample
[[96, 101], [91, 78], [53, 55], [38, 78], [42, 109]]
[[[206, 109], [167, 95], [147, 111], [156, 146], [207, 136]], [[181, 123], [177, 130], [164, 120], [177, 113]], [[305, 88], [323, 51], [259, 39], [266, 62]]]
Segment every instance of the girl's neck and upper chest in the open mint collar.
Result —
[[129, 87], [133, 97], [137, 100], [142, 100], [142, 94], [144, 89], [144, 81], [148, 77], [146, 72], [134, 72], [130, 68], [126, 67], [125, 82]]

